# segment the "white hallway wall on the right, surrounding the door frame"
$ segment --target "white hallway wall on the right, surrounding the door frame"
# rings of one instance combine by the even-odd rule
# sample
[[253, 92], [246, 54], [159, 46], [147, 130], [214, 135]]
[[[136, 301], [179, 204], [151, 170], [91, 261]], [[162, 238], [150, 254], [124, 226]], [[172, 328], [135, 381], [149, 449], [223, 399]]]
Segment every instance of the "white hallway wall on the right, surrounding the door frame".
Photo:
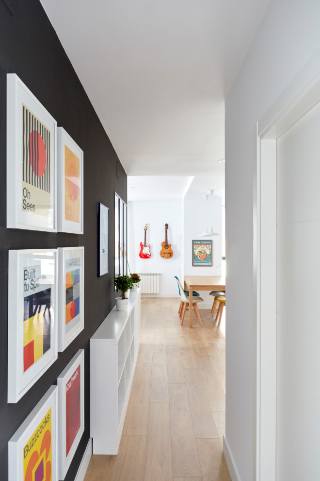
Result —
[[[253, 296], [256, 122], [309, 59], [310, 72], [320, 69], [320, 55], [313, 57], [320, 48], [319, 18], [318, 0], [272, 0], [225, 103], [225, 439], [234, 472], [241, 481], [256, 479]], [[247, 306], [240, 309], [244, 298]]]

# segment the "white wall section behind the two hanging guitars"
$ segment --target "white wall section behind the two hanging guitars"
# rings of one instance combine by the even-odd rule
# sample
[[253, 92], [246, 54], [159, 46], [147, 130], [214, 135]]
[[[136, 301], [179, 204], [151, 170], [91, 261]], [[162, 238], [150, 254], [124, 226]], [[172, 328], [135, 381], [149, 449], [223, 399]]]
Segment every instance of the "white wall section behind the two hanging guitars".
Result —
[[[157, 273], [160, 275], [160, 295], [178, 295], [174, 276], [182, 276], [182, 201], [128, 202], [128, 262], [131, 272]], [[151, 257], [139, 257], [140, 242], [144, 243], [144, 224], [147, 228], [147, 245]], [[165, 240], [164, 225], [168, 224], [168, 243], [172, 244], [173, 257], [160, 258], [161, 242]]]

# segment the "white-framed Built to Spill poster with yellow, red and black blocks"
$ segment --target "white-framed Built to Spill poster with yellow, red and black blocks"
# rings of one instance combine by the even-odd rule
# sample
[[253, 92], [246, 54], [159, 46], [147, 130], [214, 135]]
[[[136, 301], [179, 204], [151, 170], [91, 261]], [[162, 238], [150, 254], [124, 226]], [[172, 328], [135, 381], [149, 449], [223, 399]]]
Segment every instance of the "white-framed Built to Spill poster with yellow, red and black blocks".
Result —
[[57, 359], [58, 250], [9, 250], [8, 402]]

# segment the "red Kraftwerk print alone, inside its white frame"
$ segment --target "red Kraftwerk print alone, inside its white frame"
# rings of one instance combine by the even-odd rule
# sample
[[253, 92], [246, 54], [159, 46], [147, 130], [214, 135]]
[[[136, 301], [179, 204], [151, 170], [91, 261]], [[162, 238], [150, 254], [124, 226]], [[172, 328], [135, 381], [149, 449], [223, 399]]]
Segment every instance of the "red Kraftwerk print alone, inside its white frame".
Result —
[[69, 454], [81, 424], [80, 364], [65, 385], [65, 456]]

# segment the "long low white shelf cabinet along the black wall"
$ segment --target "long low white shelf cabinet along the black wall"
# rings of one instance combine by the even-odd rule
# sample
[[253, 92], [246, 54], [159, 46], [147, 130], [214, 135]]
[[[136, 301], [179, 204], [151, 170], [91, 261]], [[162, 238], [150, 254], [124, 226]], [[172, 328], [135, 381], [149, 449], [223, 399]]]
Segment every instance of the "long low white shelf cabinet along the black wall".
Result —
[[117, 454], [140, 346], [140, 289], [128, 310], [115, 307], [90, 339], [93, 454]]

